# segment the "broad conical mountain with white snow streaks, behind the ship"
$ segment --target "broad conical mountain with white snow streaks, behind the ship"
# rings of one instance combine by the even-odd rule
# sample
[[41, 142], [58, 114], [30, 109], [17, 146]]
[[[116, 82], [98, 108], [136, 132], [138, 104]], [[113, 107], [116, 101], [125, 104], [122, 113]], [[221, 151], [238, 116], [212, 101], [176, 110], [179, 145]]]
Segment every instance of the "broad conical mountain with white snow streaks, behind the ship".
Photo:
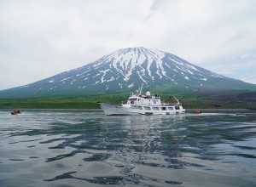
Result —
[[[247, 88], [252, 84], [223, 77], [188, 61], [156, 49], [124, 48], [80, 68], [39, 82], [0, 92], [26, 96], [94, 94], [134, 91], [145, 87]], [[254, 87], [254, 86], [253, 86]]]

